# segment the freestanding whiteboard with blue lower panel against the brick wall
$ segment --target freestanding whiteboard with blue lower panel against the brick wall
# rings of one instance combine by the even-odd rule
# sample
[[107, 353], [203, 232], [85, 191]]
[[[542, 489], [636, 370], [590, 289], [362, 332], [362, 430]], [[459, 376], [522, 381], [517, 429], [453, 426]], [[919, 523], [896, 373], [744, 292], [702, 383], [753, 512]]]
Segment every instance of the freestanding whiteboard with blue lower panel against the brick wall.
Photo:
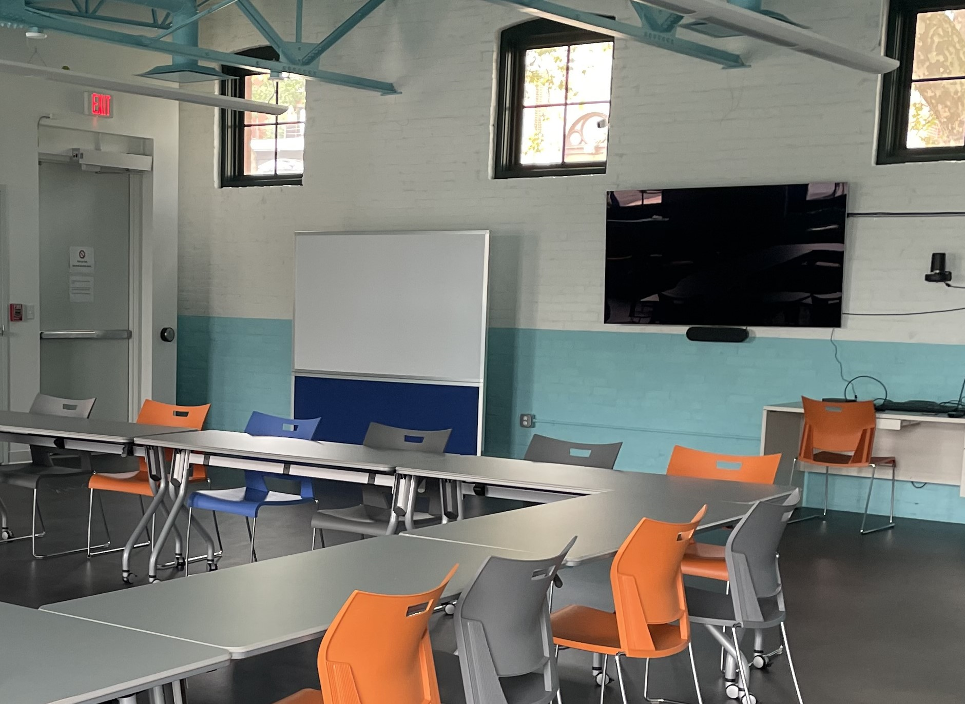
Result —
[[336, 442], [452, 426], [482, 453], [488, 278], [488, 230], [296, 232], [294, 415]]

